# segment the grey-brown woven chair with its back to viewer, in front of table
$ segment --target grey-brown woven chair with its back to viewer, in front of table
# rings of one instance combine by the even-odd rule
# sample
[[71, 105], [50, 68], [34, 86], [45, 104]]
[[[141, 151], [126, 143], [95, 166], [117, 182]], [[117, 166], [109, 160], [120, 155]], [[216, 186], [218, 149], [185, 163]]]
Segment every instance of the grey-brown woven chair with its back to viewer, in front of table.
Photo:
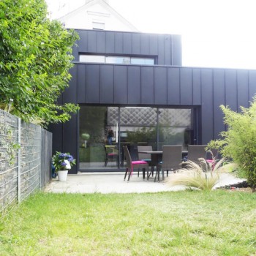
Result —
[[160, 176], [160, 170], [162, 170], [162, 179], [165, 179], [168, 176], [169, 170], [176, 172], [181, 167], [182, 159], [182, 146], [181, 145], [171, 145], [171, 146], [162, 146], [162, 162], [159, 162], [157, 165], [157, 174], [154, 178], [154, 181]]

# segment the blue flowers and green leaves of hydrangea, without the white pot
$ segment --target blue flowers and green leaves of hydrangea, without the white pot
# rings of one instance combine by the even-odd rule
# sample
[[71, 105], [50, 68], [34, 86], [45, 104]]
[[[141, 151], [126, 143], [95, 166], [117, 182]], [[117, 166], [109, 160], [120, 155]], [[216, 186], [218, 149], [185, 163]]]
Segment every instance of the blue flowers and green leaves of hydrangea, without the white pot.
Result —
[[56, 172], [58, 170], [69, 170], [73, 165], [75, 165], [75, 159], [69, 153], [61, 153], [56, 151], [56, 154], [53, 156], [52, 160]]

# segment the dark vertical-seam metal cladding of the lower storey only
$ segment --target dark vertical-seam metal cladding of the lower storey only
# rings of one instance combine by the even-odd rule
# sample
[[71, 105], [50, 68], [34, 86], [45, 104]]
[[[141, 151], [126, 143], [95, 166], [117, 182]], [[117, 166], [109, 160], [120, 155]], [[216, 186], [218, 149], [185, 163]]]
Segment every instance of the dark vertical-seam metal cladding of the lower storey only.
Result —
[[256, 70], [75, 64], [72, 74], [65, 102], [200, 107], [202, 143], [225, 129], [219, 105], [247, 108], [256, 92]]

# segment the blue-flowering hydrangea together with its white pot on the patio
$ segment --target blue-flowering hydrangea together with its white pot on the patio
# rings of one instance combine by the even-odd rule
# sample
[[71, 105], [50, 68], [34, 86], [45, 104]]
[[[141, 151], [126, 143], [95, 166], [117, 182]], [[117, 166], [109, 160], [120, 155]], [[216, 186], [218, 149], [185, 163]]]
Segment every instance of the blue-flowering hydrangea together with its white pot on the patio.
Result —
[[53, 166], [58, 173], [59, 181], [67, 181], [67, 172], [75, 165], [75, 159], [69, 153], [61, 153], [56, 151], [52, 158]]

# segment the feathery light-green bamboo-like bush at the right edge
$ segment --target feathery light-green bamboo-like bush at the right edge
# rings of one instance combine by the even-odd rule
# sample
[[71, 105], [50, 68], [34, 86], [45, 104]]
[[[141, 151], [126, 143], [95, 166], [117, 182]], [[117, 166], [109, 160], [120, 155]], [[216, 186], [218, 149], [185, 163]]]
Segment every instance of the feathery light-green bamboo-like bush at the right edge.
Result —
[[243, 171], [247, 183], [256, 188], [256, 97], [249, 108], [241, 107], [241, 113], [220, 107], [225, 115], [227, 131], [221, 132], [222, 139], [212, 140], [208, 148], [219, 148], [223, 157], [233, 159]]

